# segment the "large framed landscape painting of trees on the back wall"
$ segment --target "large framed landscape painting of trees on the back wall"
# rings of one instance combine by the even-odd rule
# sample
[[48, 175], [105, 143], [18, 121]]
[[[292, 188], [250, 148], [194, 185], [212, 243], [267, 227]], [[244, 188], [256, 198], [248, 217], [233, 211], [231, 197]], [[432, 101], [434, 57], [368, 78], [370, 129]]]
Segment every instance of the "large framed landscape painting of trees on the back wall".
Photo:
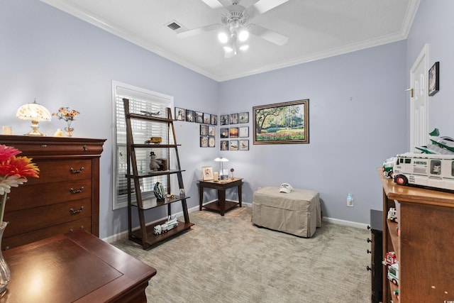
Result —
[[309, 143], [309, 99], [253, 106], [254, 144]]

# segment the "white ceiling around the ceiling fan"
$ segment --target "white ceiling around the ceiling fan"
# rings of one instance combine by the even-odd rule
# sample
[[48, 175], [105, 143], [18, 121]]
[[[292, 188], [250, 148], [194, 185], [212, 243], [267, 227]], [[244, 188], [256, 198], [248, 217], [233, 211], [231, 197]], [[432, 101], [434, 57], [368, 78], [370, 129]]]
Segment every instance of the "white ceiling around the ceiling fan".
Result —
[[406, 39], [419, 6], [419, 0], [289, 0], [250, 20], [287, 35], [285, 45], [251, 35], [246, 52], [225, 58], [216, 31], [179, 38], [167, 27], [221, 23], [226, 11], [202, 0], [41, 1], [220, 82]]

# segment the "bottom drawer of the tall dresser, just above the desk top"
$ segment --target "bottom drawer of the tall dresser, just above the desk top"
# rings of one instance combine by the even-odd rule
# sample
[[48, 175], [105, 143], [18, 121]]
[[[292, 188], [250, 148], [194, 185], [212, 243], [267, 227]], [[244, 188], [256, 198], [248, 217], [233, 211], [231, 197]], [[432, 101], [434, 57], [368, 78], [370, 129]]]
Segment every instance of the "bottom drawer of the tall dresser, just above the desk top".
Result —
[[[6, 230], [9, 226], [6, 227]], [[29, 233], [21, 233], [17, 236], [4, 237], [1, 241], [1, 250], [7, 250], [17, 246], [22, 246], [35, 241], [49, 238], [60, 233], [67, 233], [68, 231], [77, 231], [77, 229], [83, 229], [84, 231], [92, 231], [92, 219], [90, 217], [79, 219], [77, 221], [67, 222], [65, 224], [59, 224], [50, 226], [48, 228], [38, 229]]]

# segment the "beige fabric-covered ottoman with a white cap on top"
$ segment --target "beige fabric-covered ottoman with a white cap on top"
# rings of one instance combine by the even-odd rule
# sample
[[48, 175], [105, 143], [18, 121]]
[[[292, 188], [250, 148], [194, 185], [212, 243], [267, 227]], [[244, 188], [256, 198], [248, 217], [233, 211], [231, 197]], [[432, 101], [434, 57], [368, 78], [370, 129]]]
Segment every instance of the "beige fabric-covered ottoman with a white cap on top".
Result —
[[309, 238], [321, 227], [319, 193], [294, 189], [279, 192], [279, 187], [263, 187], [253, 194], [253, 224], [275, 231]]

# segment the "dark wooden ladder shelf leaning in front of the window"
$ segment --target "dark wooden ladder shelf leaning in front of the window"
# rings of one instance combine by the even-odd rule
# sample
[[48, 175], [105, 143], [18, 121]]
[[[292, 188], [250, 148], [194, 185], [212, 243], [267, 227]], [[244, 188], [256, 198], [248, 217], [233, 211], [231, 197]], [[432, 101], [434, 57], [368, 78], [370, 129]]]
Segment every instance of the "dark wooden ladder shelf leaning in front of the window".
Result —
[[[155, 198], [148, 198], [145, 199], [142, 197], [142, 192], [140, 190], [140, 180], [146, 178], [152, 178], [157, 176], [167, 176], [167, 194], [170, 194], [170, 175], [177, 175], [178, 186], [179, 189], [184, 189], [181, 166], [179, 163], [179, 155], [178, 155], [178, 146], [177, 145], [177, 138], [175, 136], [175, 128], [173, 125], [172, 119], [172, 110], [170, 108], [166, 109], [165, 117], [161, 116], [153, 116], [153, 115], [144, 115], [144, 114], [134, 114], [130, 112], [130, 104], [129, 99], [123, 99], [123, 105], [125, 110], [125, 119], [126, 119], [126, 147], [127, 147], [127, 159], [128, 159], [128, 171], [126, 174], [126, 178], [128, 180], [128, 237], [131, 241], [140, 244], [143, 249], [151, 248], [156, 243], [160, 241], [164, 241], [167, 238], [171, 238], [173, 236], [177, 236], [184, 231], [187, 231], [193, 226], [189, 221], [189, 213], [187, 210], [187, 202], [186, 200], [189, 198], [188, 196], [179, 197], [174, 196], [172, 198], [165, 197], [164, 202], [157, 202]], [[165, 123], [167, 127], [167, 134], [172, 133], [173, 142], [175, 144], [143, 144], [143, 143], [134, 143], [134, 134], [133, 128], [131, 126], [131, 120], [142, 120], [147, 121], [149, 123]], [[169, 142], [169, 138], [167, 138], [167, 142]], [[165, 148], [167, 149], [167, 165], [170, 167], [170, 149], [175, 150], [176, 158], [176, 170], [161, 170], [161, 171], [153, 171], [153, 172], [139, 172], [138, 171], [138, 164], [137, 158], [135, 154], [136, 149], [157, 149], [157, 148]], [[133, 186], [131, 185], [133, 182]], [[135, 193], [135, 201], [133, 201], [133, 192]], [[154, 233], [154, 226], [148, 225], [145, 221], [145, 211], [150, 209], [155, 209], [156, 207], [160, 206], [167, 206], [167, 214], [170, 216], [172, 214], [171, 205], [175, 202], [181, 202], [184, 221], [178, 221], [178, 226], [171, 229], [170, 231], [165, 231], [159, 235], [155, 235]], [[133, 223], [132, 223], [132, 208], [137, 209], [138, 211], [138, 220], [139, 220], [139, 228], [133, 231]], [[163, 224], [167, 220], [162, 220], [160, 222], [155, 223], [155, 225]]]

